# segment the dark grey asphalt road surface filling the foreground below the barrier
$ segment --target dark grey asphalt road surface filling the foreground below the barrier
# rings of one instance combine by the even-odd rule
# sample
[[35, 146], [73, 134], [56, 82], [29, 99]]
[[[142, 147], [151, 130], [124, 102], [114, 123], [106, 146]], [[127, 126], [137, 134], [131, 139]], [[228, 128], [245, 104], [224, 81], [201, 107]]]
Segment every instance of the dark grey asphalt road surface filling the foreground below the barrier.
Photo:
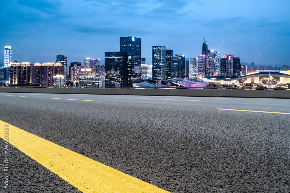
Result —
[[[0, 93], [1, 121], [169, 192], [290, 192], [290, 115], [249, 112], [290, 113], [289, 99], [17, 95]], [[79, 192], [10, 158], [10, 192]]]

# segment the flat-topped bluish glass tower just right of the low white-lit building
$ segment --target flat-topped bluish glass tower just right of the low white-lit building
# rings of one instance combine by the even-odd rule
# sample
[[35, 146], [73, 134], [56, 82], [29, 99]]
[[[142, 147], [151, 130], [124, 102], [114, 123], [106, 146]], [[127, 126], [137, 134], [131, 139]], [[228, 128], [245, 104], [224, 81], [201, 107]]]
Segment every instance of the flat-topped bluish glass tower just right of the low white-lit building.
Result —
[[166, 79], [166, 47], [152, 46], [152, 80]]

